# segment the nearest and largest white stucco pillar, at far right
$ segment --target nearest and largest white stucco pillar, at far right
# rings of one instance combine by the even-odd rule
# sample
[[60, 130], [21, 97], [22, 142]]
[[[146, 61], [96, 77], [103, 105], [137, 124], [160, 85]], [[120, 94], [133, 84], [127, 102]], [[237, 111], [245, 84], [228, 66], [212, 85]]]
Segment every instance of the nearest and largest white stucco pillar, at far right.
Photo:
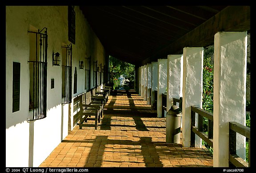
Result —
[[[218, 32], [214, 38], [213, 166], [228, 167], [229, 122], [245, 126], [247, 32]], [[245, 159], [245, 138], [237, 134]]]

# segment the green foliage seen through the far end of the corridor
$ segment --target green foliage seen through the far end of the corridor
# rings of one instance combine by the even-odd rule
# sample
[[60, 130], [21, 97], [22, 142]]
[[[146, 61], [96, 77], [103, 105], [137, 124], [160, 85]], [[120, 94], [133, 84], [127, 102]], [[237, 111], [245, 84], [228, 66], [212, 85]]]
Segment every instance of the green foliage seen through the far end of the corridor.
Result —
[[120, 87], [120, 81], [118, 80], [120, 75], [123, 75], [123, 77], [126, 79], [124, 83], [124, 88], [126, 89], [133, 88], [134, 70], [135, 70], [134, 65], [121, 61], [119, 59], [116, 59], [112, 56], [109, 56], [109, 77], [110, 77], [110, 83], [113, 89]]

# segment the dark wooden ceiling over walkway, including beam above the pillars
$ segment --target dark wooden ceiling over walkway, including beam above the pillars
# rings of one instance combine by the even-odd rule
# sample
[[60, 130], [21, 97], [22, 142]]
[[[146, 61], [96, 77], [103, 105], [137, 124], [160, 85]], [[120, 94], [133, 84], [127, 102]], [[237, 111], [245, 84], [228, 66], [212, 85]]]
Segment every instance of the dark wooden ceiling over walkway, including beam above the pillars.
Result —
[[[216, 31], [234, 30], [233, 25], [239, 25], [236, 28], [239, 31], [250, 28], [249, 6], [80, 6], [80, 9], [109, 55], [138, 66], [180, 53], [185, 46], [208, 46], [213, 43]], [[216, 16], [221, 11], [224, 12]], [[236, 15], [243, 15], [243, 19], [234, 20]], [[241, 22], [244, 18], [247, 21]], [[236, 24], [226, 26], [225, 20]], [[247, 26], [241, 27], [244, 24]], [[199, 26], [200, 31], [196, 31]]]

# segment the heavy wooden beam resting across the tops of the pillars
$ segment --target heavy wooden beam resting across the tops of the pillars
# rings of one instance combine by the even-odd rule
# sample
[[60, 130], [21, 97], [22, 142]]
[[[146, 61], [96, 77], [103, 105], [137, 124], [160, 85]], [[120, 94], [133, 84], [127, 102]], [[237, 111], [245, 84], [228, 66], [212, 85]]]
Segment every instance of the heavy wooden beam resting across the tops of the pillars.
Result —
[[250, 6], [228, 6], [199, 27], [145, 59], [141, 65], [151, 63], [159, 58], [167, 58], [171, 54], [182, 54], [184, 47], [212, 45], [214, 35], [219, 31], [248, 30], [250, 30]]

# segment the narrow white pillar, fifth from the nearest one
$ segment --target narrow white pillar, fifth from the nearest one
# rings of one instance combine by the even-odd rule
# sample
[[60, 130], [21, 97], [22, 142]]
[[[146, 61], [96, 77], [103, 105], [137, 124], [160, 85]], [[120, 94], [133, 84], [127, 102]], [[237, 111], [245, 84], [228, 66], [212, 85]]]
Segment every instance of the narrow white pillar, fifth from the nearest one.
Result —
[[151, 89], [151, 108], [155, 109], [157, 102], [155, 102], [155, 93], [158, 87], [158, 62], [152, 62], [152, 89]]

